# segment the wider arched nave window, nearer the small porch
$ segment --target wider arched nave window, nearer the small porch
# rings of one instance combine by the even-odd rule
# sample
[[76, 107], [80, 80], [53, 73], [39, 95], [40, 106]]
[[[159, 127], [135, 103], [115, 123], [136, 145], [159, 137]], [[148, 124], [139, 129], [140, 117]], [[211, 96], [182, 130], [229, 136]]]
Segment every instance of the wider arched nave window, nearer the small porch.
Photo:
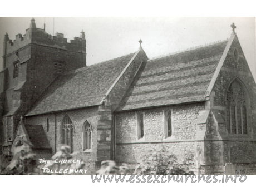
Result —
[[62, 121], [62, 144], [70, 146], [73, 152], [73, 125], [70, 117], [65, 115]]

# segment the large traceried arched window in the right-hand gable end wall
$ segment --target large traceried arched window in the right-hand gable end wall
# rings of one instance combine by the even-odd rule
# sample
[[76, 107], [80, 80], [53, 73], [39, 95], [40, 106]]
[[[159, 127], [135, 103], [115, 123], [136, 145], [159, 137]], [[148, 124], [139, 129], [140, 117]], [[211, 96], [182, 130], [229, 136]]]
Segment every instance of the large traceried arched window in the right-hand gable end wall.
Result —
[[245, 90], [234, 80], [227, 92], [227, 130], [230, 134], [247, 134], [247, 101]]

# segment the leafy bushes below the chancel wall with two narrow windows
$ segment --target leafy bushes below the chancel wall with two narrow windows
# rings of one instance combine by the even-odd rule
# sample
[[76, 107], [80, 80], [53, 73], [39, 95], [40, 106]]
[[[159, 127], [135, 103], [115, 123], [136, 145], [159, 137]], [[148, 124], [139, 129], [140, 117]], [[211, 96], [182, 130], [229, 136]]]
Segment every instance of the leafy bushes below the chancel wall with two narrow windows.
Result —
[[135, 171], [127, 164], [117, 166], [115, 161], [102, 161], [97, 175], [193, 175], [194, 159], [191, 153], [185, 155], [181, 163], [165, 147], [150, 150], [136, 166]]

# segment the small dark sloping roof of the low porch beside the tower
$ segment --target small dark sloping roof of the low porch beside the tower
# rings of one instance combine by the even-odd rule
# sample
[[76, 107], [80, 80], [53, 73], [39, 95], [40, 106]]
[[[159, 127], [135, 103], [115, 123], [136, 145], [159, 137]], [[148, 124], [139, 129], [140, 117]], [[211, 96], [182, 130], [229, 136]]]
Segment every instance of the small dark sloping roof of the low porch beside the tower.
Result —
[[25, 127], [34, 149], [51, 149], [42, 125], [25, 124]]

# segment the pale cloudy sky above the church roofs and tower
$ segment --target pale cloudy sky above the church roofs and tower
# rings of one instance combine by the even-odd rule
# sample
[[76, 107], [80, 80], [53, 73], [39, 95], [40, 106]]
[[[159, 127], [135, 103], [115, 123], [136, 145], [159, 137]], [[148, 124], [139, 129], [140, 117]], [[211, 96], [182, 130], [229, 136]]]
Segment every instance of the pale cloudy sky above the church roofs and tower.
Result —
[[[31, 18], [0, 17], [0, 53], [4, 34], [7, 32], [14, 39], [18, 33], [26, 33]], [[87, 65], [136, 52], [140, 39], [149, 58], [226, 40], [234, 22], [256, 79], [255, 17], [35, 17], [35, 20], [37, 28], [43, 28], [45, 22], [47, 33], [63, 33], [68, 41], [85, 31]]]

